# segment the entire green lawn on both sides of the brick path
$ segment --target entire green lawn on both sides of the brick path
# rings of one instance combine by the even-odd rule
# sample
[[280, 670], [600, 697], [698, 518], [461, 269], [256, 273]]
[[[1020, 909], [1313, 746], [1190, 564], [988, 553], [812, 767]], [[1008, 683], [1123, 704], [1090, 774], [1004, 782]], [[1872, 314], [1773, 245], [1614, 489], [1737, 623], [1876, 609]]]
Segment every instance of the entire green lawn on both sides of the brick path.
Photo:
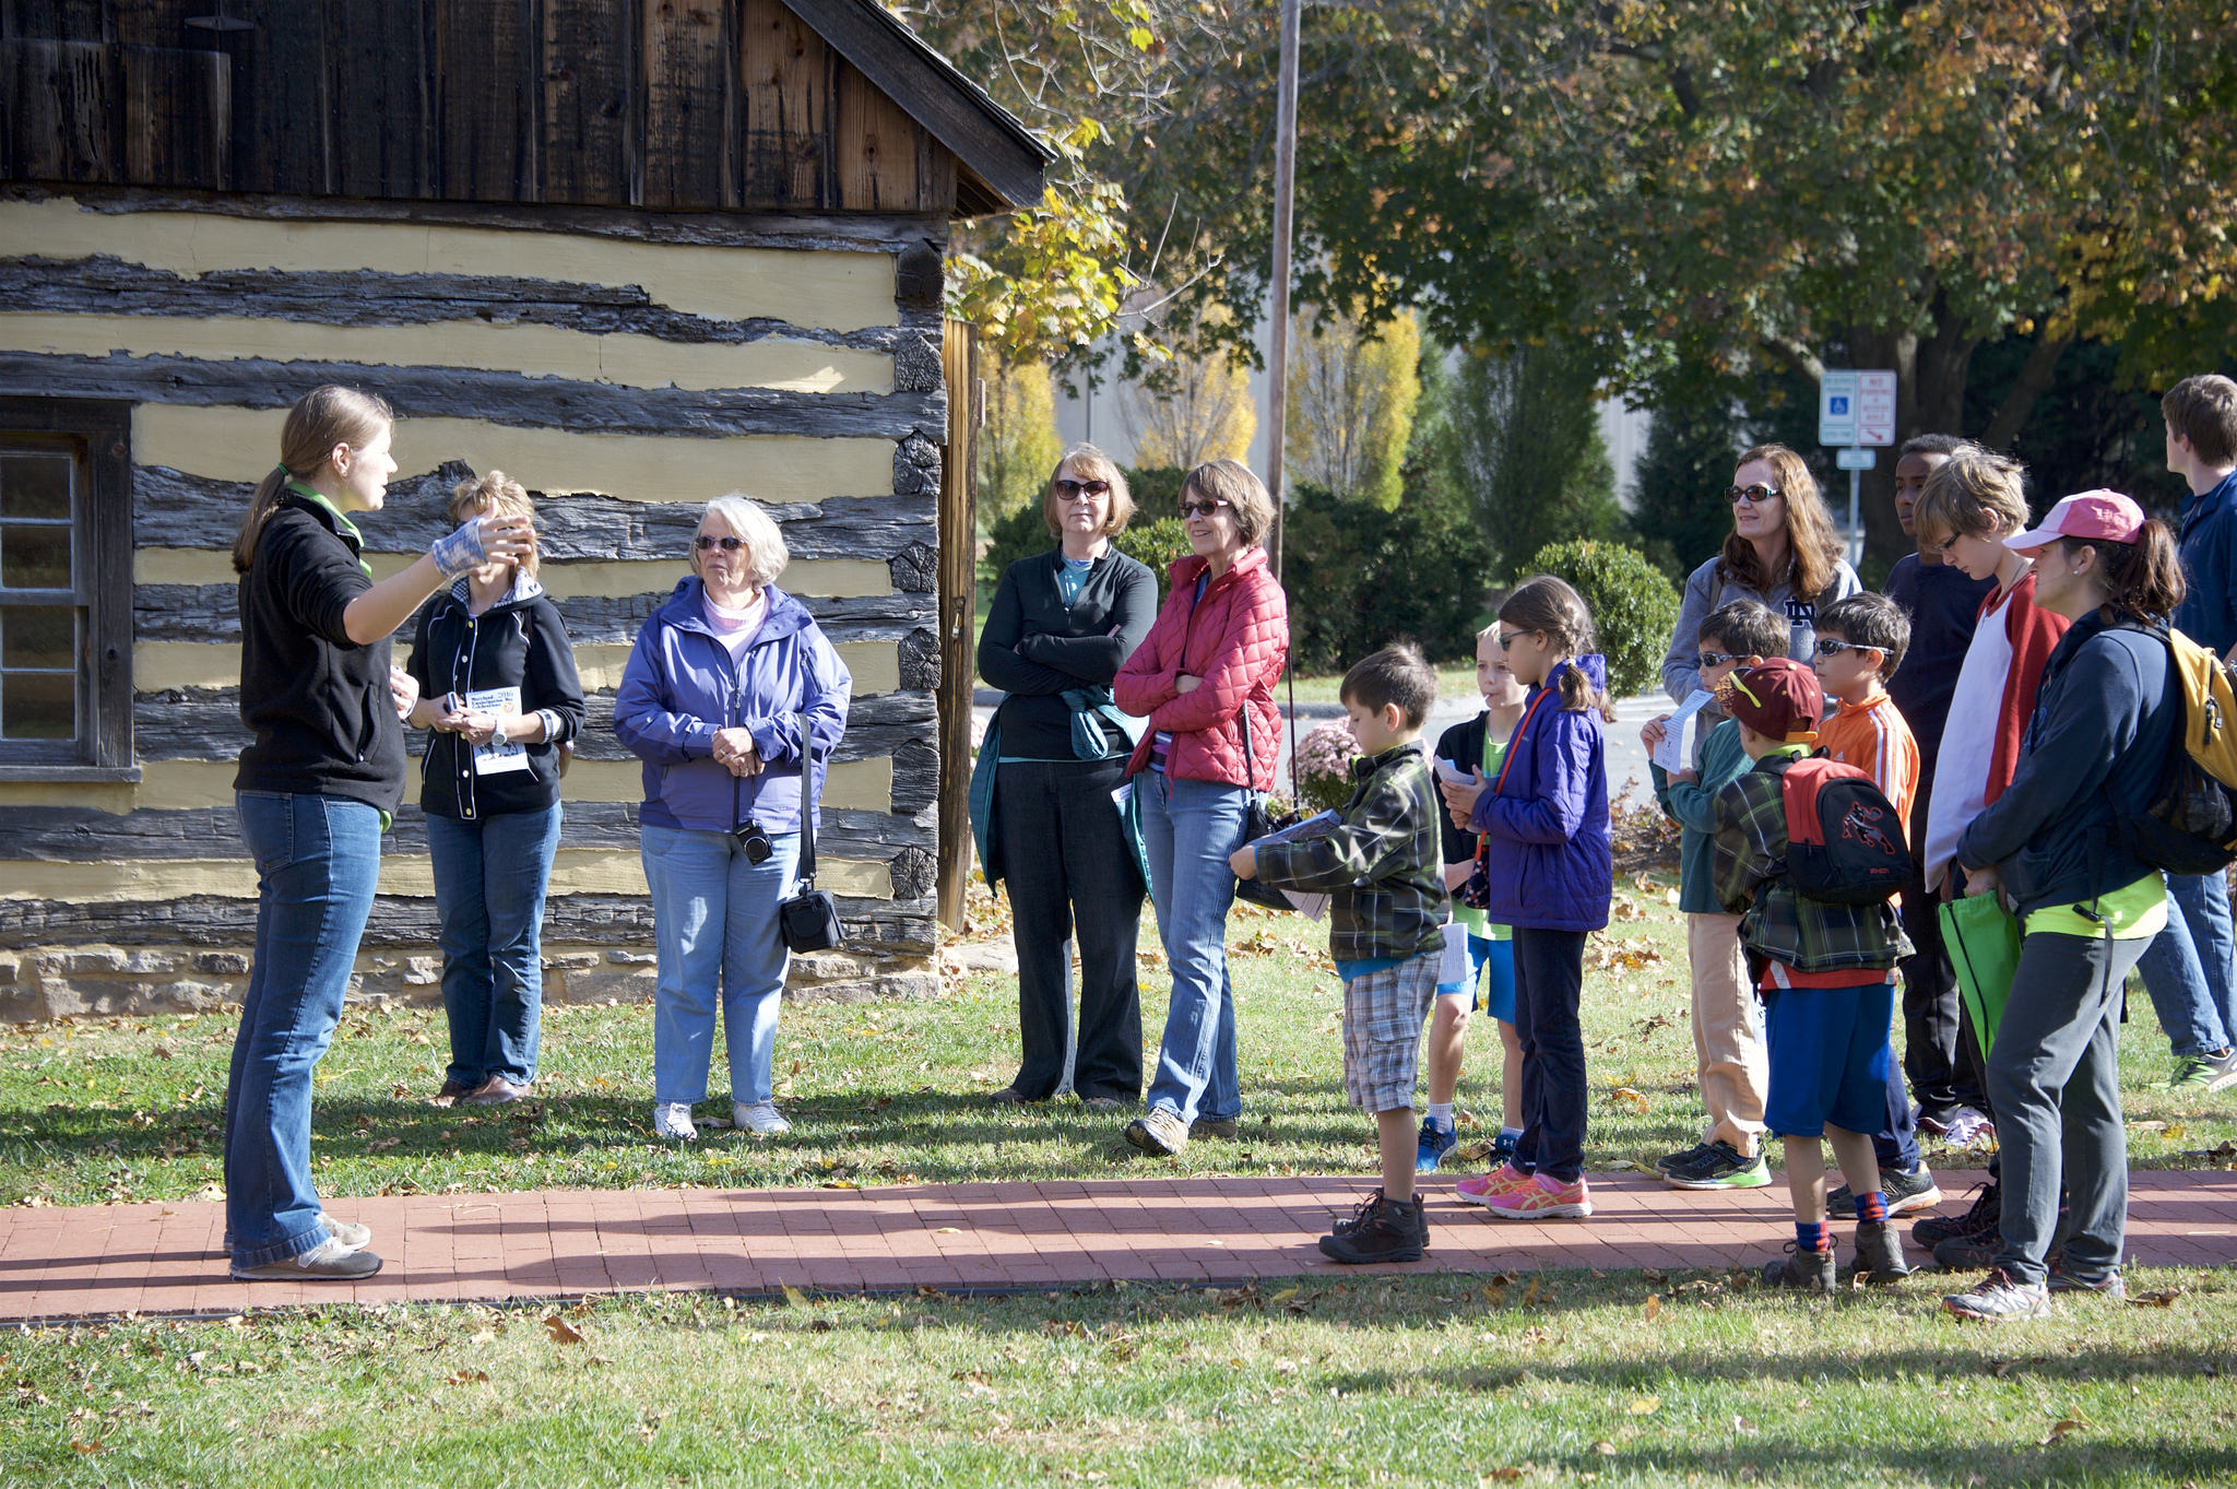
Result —
[[[1693, 1055], [1667, 879], [1626, 881], [1586, 979], [1588, 1165], [1689, 1140]], [[984, 926], [1000, 914], [975, 901]], [[790, 1138], [651, 1140], [651, 1011], [555, 1008], [539, 1100], [434, 1111], [438, 1011], [351, 1008], [320, 1066], [324, 1194], [859, 1185], [1112, 1172], [1371, 1172], [1342, 1102], [1318, 928], [1239, 910], [1242, 1142], [1148, 1165], [1074, 1102], [995, 1111], [1016, 984], [805, 1006], [778, 1037]], [[1154, 946], [1154, 937], [1145, 937]], [[1154, 1044], [1163, 979], [1145, 973]], [[1488, 1031], [1463, 1102], [1483, 1104]], [[0, 1203], [213, 1192], [230, 1015], [0, 1037]], [[2165, 1091], [2123, 1040], [2130, 1151], [2228, 1163], [2237, 1098]], [[716, 1091], [723, 1089], [720, 1075]], [[1483, 1120], [1470, 1138], [1481, 1140]], [[2219, 1149], [2219, 1151], [2215, 1151]], [[1978, 1165], [1931, 1151], [1942, 1165]], [[1476, 1167], [1476, 1165], [1470, 1165]], [[1020, 1299], [631, 1297], [0, 1335], [0, 1482], [418, 1485], [2212, 1485], [2237, 1478], [2237, 1279], [2132, 1272], [2130, 1306], [2011, 1330], [1931, 1274], [1796, 1301], [1727, 1272], [1101, 1288]]]

